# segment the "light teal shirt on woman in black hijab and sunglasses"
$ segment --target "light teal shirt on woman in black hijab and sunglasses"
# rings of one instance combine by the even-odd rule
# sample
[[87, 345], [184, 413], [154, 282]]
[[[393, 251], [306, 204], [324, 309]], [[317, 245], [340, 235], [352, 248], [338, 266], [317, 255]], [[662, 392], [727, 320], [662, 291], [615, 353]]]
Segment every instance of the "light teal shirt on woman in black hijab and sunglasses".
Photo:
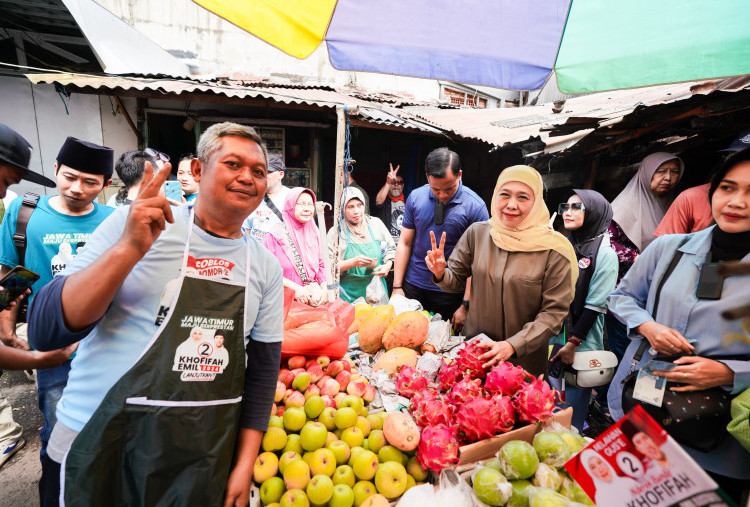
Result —
[[[589, 293], [586, 296], [586, 308], [600, 312], [600, 315], [591, 326], [586, 340], [576, 347], [577, 352], [586, 350], [604, 350], [604, 314], [607, 313], [607, 296], [609, 296], [617, 284], [617, 254], [609, 243], [609, 237], [604, 236], [599, 252], [596, 254], [596, 270], [589, 283]], [[551, 344], [565, 343], [563, 333], [550, 340]]]

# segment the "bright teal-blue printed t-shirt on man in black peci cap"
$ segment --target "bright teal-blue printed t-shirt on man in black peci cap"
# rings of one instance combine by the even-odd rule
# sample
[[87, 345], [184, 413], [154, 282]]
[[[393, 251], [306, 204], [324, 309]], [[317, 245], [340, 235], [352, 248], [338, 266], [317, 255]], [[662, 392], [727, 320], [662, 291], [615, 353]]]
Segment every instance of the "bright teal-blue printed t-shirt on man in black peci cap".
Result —
[[[31, 286], [30, 299], [73, 261], [94, 230], [114, 211], [114, 208], [95, 202], [94, 209], [86, 215], [65, 215], [49, 205], [50, 197], [53, 196], [39, 198], [26, 228], [26, 260], [23, 264], [39, 274], [39, 280]], [[10, 203], [0, 225], [0, 264], [10, 268], [21, 264], [13, 244], [13, 234], [22, 202], [23, 197], [18, 197]]]

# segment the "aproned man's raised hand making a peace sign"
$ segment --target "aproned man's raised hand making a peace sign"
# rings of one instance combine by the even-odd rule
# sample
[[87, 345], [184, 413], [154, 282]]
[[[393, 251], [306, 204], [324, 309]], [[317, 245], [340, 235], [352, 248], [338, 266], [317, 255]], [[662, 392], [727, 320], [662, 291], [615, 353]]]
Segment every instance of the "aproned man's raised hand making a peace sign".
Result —
[[167, 222], [173, 223], [172, 209], [161, 191], [172, 166], [167, 163], [161, 171], [154, 173], [150, 162], [146, 162], [143, 180], [138, 197], [130, 205], [128, 221], [122, 235], [129, 247], [140, 253], [141, 257], [154, 244]]

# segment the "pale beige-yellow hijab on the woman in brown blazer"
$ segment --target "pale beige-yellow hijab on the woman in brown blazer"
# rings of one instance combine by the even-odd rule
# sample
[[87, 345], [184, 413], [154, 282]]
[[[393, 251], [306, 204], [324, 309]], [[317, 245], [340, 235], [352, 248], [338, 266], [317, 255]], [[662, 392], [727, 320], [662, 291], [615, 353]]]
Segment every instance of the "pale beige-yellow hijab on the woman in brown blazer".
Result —
[[[528, 216], [514, 229], [505, 227], [497, 215], [497, 194], [505, 183], [519, 181], [525, 183], [534, 193], [534, 205]], [[490, 234], [498, 248], [508, 252], [540, 252], [554, 250], [570, 262], [570, 283], [575, 292], [578, 280], [578, 259], [570, 241], [552, 230], [549, 226], [549, 210], [544, 204], [542, 176], [532, 167], [514, 165], [508, 167], [497, 178], [495, 193], [492, 194], [492, 218]]]

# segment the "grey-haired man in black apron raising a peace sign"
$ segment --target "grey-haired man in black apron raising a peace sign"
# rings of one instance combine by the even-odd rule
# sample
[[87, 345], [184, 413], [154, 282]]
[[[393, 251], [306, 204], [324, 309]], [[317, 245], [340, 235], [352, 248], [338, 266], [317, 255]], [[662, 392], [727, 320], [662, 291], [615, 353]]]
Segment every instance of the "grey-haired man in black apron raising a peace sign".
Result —
[[169, 166], [147, 166], [130, 209], [30, 308], [40, 349], [81, 340], [43, 470], [60, 472], [66, 505], [248, 504], [282, 338], [281, 268], [241, 230], [265, 149], [249, 127], [214, 125], [192, 170], [194, 206], [170, 209]]

